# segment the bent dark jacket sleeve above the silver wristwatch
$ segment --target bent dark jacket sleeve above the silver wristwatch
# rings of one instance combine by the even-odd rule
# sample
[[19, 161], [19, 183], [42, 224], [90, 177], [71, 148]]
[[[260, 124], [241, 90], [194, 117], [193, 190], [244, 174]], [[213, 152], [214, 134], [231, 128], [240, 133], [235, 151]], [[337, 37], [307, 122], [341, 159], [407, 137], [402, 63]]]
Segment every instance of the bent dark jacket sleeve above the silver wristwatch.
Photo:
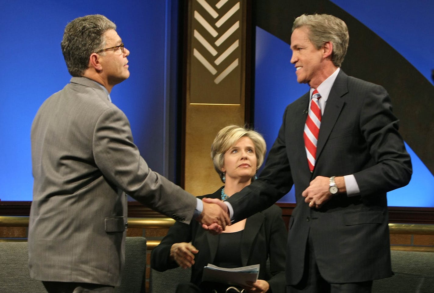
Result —
[[388, 192], [408, 184], [412, 173], [410, 156], [398, 133], [391, 100], [382, 86], [373, 85], [366, 93], [360, 129], [375, 162], [354, 174], [360, 193]]

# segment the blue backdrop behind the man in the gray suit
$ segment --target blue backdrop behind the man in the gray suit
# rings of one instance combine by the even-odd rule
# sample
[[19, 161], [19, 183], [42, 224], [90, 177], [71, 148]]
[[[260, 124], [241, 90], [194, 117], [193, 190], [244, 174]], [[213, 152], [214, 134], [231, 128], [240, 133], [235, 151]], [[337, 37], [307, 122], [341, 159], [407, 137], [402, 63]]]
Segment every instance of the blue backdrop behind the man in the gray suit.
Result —
[[69, 21], [87, 14], [103, 14], [112, 20], [130, 50], [130, 78], [115, 86], [111, 97], [130, 120], [142, 156], [155, 171], [167, 174], [164, 133], [171, 90], [167, 82], [171, 70], [171, 2], [2, 1], [2, 201], [32, 200], [30, 126], [43, 101], [69, 82], [71, 76], [60, 49], [63, 30]]

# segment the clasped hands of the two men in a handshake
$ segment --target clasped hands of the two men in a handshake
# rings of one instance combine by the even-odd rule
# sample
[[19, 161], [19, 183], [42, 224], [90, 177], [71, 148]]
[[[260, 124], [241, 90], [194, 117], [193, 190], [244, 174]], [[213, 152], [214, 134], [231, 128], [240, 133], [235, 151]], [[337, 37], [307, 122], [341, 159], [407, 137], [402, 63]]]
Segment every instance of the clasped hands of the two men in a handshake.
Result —
[[202, 202], [204, 210], [196, 220], [212, 234], [220, 234], [227, 225], [230, 225], [227, 205], [217, 198], [204, 198]]

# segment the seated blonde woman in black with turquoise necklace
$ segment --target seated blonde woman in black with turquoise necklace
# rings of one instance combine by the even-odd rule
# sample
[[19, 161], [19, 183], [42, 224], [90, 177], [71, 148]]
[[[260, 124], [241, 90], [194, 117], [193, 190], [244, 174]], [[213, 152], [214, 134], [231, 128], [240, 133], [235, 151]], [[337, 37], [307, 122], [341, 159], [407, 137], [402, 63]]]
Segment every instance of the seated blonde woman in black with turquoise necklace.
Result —
[[[224, 183], [213, 194], [200, 198], [226, 200], [250, 184], [264, 160], [266, 144], [256, 131], [236, 125], [218, 132], [211, 145], [214, 168]], [[287, 231], [281, 209], [273, 205], [243, 221], [226, 227], [224, 233], [212, 235], [192, 221], [175, 223], [151, 254], [151, 267], [164, 271], [174, 267], [191, 267], [191, 283], [178, 286], [177, 293], [226, 292], [227, 284], [202, 282], [204, 266], [243, 267], [260, 264], [259, 277], [244, 292], [285, 292], [285, 246]], [[267, 272], [267, 259], [270, 270]], [[231, 291], [232, 292], [232, 291]]]

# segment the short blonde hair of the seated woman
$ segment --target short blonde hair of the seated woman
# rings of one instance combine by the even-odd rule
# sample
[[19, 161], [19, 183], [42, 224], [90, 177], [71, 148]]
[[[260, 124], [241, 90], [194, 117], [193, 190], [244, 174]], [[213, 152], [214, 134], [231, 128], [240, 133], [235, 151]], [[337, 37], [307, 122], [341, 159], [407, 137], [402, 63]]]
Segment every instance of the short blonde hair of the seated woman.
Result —
[[221, 169], [224, 165], [224, 154], [231, 146], [235, 145], [238, 139], [244, 136], [250, 138], [253, 142], [253, 145], [255, 146], [255, 154], [257, 159], [256, 171], [262, 165], [266, 152], [266, 143], [262, 135], [253, 129], [240, 127], [238, 125], [228, 125], [217, 133], [217, 136], [214, 138], [214, 142], [211, 145], [211, 158], [214, 163], [214, 168], [216, 169], [220, 178], [223, 176]]

